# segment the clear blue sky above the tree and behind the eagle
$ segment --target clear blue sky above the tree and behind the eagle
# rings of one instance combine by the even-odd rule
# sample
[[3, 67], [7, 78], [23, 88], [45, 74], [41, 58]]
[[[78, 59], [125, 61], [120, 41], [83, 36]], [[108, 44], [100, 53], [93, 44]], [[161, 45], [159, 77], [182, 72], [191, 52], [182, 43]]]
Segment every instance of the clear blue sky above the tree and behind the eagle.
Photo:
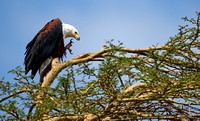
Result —
[[81, 38], [67, 60], [97, 52], [111, 39], [126, 48], [163, 45], [186, 24], [182, 17], [195, 17], [199, 5], [199, 0], [0, 0], [0, 79], [24, 68], [26, 45], [54, 18], [75, 26]]

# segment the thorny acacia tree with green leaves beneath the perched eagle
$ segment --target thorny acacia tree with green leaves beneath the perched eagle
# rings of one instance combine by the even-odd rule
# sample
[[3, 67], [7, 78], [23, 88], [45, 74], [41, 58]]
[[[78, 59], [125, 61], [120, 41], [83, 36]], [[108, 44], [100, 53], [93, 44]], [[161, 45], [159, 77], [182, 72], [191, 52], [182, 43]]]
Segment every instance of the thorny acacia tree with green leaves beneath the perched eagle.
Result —
[[[0, 82], [2, 120], [195, 120], [200, 117], [200, 13], [163, 46], [112, 44], [62, 63], [40, 83], [21, 67]], [[62, 76], [58, 74], [63, 71]], [[43, 78], [44, 77], [44, 78]], [[52, 83], [57, 81], [56, 86]]]

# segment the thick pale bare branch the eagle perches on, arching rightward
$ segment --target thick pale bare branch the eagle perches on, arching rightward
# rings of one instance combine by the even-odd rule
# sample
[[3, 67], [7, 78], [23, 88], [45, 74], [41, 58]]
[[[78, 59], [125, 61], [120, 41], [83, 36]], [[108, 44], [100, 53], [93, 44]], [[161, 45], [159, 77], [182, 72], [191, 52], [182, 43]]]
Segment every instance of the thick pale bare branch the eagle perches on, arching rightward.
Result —
[[[150, 50], [159, 50], [162, 48], [168, 48], [166, 46], [158, 46], [158, 47], [150, 47], [150, 48], [144, 48], [144, 49], [129, 49], [129, 48], [103, 48], [102, 50], [96, 52], [96, 53], [84, 53], [79, 56], [76, 56], [72, 59], [69, 59], [61, 64], [57, 64], [56, 67], [52, 68], [47, 77], [45, 78], [45, 83], [42, 84], [42, 87], [50, 86], [50, 84], [53, 82], [53, 80], [56, 78], [58, 73], [62, 71], [62, 69], [66, 68], [69, 65], [76, 65], [78, 63], [85, 63], [90, 60], [93, 60], [95, 58], [99, 57], [105, 57], [110, 56], [109, 54], [106, 54], [109, 51], [125, 51], [128, 53], [135, 53], [135, 54], [141, 54], [143, 55], [144, 52], [149, 52]], [[52, 62], [53, 63], [53, 62]]]

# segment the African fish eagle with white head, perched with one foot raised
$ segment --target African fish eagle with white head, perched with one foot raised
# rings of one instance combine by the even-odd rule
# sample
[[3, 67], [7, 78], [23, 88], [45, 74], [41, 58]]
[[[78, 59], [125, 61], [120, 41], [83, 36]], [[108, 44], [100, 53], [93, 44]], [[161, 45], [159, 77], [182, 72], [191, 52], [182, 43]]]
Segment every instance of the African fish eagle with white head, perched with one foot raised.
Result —
[[53, 58], [62, 59], [66, 56], [64, 39], [74, 37], [80, 40], [77, 29], [64, 24], [59, 18], [48, 22], [26, 46], [25, 70], [26, 74], [32, 70], [33, 77], [39, 69], [47, 66]]

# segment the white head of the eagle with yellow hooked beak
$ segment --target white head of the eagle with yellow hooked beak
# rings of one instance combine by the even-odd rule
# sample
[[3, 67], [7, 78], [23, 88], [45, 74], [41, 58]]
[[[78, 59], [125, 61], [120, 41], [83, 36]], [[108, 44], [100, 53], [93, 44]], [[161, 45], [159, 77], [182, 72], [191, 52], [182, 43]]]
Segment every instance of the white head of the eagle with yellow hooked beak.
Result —
[[78, 31], [74, 26], [62, 23], [62, 29], [64, 38], [74, 37], [75, 39], [80, 40]]

